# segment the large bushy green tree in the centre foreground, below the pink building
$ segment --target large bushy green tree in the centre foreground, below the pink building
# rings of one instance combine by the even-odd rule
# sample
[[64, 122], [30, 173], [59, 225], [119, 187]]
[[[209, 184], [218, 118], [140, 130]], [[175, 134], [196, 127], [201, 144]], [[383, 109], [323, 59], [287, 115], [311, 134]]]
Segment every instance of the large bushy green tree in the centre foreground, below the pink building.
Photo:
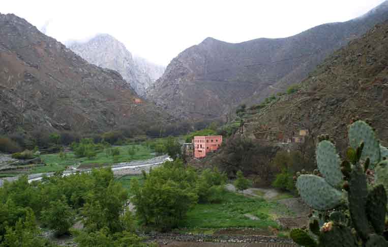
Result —
[[153, 169], [142, 186], [131, 180], [131, 201], [141, 223], [161, 230], [176, 227], [198, 200], [195, 181], [196, 172], [179, 159]]

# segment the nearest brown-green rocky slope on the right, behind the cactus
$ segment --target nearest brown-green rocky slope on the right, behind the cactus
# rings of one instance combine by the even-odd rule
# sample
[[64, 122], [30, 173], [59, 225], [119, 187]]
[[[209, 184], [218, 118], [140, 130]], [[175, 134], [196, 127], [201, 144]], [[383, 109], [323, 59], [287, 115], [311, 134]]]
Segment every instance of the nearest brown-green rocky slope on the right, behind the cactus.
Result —
[[[370, 119], [388, 145], [388, 21], [336, 51], [301, 83], [301, 89], [260, 109], [245, 134], [277, 141], [292, 131], [329, 133], [339, 148], [347, 146], [353, 117]], [[278, 140], [280, 141], [280, 140]]]

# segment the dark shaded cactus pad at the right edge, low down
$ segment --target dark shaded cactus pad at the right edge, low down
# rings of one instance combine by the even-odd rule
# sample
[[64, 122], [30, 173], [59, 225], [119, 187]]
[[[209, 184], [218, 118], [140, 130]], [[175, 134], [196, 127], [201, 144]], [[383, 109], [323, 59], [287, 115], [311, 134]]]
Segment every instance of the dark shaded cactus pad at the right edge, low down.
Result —
[[382, 235], [385, 229], [386, 193], [381, 184], [374, 187], [367, 200], [367, 216], [375, 232]]

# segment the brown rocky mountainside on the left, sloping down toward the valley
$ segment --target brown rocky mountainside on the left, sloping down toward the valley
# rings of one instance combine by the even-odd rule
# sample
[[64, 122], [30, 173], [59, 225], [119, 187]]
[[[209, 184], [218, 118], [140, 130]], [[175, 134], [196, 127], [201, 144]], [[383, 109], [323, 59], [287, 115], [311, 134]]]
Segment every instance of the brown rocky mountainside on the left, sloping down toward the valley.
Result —
[[163, 120], [119, 73], [89, 64], [13, 14], [0, 14], [0, 64], [0, 133], [99, 131]]

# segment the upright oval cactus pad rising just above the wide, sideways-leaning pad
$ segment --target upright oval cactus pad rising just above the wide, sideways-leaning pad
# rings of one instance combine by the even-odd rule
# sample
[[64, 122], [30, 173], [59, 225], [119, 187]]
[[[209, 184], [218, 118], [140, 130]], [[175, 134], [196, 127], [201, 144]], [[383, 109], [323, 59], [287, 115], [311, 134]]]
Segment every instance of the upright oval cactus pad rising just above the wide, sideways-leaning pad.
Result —
[[316, 149], [316, 157], [319, 171], [333, 187], [342, 185], [341, 159], [336, 147], [329, 141], [322, 141]]

